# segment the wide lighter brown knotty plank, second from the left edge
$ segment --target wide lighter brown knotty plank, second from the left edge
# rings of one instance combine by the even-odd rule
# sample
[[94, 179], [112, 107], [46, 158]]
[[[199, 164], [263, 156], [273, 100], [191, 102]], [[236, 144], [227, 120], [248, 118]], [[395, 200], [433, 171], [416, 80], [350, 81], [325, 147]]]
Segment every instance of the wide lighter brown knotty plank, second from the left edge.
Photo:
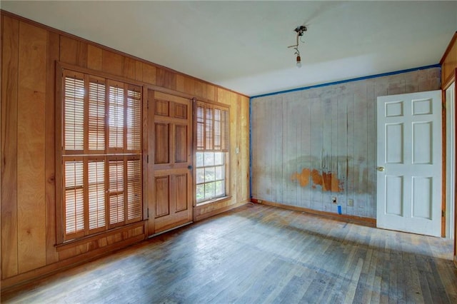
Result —
[[19, 273], [46, 264], [45, 29], [19, 24], [18, 261]]

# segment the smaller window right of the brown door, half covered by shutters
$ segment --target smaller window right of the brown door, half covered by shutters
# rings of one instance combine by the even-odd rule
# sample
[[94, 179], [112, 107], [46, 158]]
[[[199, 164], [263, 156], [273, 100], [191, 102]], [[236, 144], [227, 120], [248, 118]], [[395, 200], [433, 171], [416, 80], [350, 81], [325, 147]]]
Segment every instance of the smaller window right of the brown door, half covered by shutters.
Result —
[[229, 108], [197, 101], [196, 201], [227, 196]]

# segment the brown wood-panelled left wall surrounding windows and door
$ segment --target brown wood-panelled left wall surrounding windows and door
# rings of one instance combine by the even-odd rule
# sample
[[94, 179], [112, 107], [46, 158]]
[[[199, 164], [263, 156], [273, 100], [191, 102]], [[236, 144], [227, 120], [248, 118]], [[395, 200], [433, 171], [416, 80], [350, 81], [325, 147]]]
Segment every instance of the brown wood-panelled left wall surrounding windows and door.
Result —
[[194, 218], [248, 201], [248, 97], [1, 11], [1, 288], [147, 236], [143, 222], [54, 246], [57, 61], [139, 81], [156, 91], [229, 105], [231, 198], [197, 207]]

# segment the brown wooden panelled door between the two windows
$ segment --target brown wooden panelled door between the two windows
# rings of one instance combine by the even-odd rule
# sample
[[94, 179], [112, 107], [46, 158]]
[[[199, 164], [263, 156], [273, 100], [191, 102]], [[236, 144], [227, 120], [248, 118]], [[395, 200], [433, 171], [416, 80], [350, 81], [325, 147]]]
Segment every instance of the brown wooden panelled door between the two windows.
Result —
[[192, 221], [192, 101], [149, 90], [154, 112], [149, 235]]

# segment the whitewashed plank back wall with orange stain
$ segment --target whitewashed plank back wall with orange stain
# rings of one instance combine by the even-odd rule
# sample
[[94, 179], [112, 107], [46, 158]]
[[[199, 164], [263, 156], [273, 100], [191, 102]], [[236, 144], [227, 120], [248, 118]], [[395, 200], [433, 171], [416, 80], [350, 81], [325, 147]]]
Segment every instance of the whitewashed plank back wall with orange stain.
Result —
[[440, 81], [436, 67], [253, 98], [252, 197], [376, 218], [376, 97]]

